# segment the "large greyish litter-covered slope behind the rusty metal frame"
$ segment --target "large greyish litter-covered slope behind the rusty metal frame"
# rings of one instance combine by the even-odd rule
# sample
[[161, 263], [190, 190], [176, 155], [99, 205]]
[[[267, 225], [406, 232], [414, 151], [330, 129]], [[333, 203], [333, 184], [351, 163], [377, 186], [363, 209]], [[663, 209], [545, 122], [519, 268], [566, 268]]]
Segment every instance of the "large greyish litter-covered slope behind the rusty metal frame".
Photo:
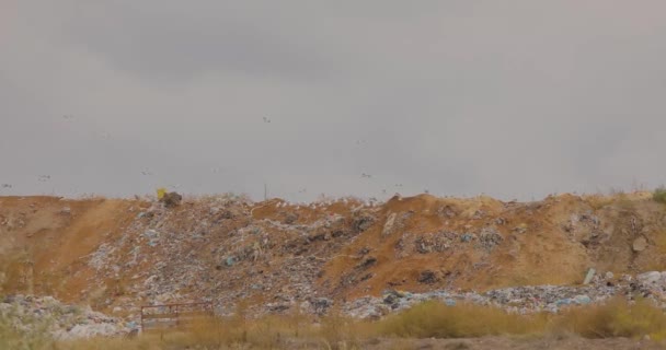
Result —
[[297, 303], [320, 313], [326, 302], [318, 300], [318, 275], [374, 218], [363, 206], [354, 213], [312, 212], [282, 201], [256, 206], [231, 195], [183, 200], [177, 208], [162, 201], [137, 208], [122, 236], [88, 257], [95, 270], [91, 281], [123, 283], [118, 295], [96, 306], [136, 317], [141, 304], [213, 301], [219, 314], [229, 314], [239, 301], [255, 296], [264, 302], [251, 306], [254, 314]]

